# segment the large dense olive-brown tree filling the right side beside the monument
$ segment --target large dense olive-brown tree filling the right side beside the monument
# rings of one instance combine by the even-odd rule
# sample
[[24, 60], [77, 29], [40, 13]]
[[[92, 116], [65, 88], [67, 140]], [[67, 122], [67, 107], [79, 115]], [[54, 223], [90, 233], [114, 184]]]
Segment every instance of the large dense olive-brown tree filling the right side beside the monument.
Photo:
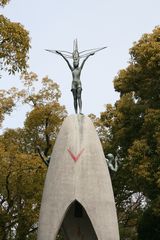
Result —
[[104, 152], [123, 160], [118, 172], [111, 173], [121, 239], [137, 239], [141, 216], [148, 208], [160, 215], [159, 36], [156, 27], [134, 43], [129, 66], [114, 80], [120, 99], [107, 105], [99, 120]]

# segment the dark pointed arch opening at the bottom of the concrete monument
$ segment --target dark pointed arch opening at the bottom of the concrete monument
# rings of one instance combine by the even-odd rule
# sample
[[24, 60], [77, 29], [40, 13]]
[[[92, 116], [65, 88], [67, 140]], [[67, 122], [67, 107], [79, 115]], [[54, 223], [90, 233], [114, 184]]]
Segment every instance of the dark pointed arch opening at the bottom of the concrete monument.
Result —
[[68, 208], [57, 235], [59, 240], [98, 240], [84, 207], [74, 201]]

